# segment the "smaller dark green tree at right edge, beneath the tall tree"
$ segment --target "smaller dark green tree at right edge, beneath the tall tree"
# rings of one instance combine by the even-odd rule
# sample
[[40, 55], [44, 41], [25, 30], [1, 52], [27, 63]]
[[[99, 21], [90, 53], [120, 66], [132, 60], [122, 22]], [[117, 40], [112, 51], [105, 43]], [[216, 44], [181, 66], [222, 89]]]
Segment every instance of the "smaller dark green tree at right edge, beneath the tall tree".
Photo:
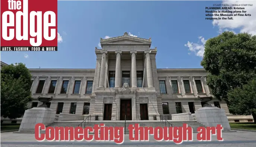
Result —
[[228, 92], [229, 111], [237, 115], [251, 115], [256, 123], [256, 78], [242, 87]]

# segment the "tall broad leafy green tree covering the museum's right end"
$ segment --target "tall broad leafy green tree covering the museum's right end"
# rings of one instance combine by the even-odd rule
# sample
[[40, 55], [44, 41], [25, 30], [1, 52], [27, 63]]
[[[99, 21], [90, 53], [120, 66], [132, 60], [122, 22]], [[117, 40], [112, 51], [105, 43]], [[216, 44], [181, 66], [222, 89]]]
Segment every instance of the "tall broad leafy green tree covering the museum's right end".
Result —
[[[240, 98], [233, 100], [234, 94], [238, 94], [233, 90], [243, 89], [243, 85], [250, 83], [256, 77], [256, 36], [226, 31], [207, 40], [201, 65], [209, 73], [206, 84], [212, 94], [227, 103], [231, 114], [249, 115], [253, 113], [253, 109], [250, 109], [253, 105], [244, 103], [240, 95], [238, 95]], [[244, 91], [243, 94], [247, 92], [249, 91]], [[245, 100], [252, 101], [249, 98]], [[238, 101], [248, 104], [244, 107], [250, 110], [240, 109], [237, 106]]]

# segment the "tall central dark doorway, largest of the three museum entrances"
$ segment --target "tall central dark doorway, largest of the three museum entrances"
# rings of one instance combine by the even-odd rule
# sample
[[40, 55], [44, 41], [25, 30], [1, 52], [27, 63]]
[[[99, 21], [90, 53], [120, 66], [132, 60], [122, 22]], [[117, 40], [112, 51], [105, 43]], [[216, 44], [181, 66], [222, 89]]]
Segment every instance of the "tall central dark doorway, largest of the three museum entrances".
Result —
[[132, 120], [132, 100], [120, 100], [120, 120]]

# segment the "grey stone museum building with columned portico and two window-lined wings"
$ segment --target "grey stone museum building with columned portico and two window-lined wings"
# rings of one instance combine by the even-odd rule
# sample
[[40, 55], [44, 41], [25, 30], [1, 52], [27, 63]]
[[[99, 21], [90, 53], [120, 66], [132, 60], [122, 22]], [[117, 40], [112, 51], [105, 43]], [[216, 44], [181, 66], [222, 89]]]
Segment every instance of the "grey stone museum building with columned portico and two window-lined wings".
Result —
[[[89, 115], [92, 120], [170, 120], [171, 114], [193, 114], [201, 108], [204, 103], [198, 96], [212, 96], [204, 69], [157, 69], [151, 38], [124, 33], [101, 38], [100, 44], [102, 49], [95, 47], [95, 69], [29, 69], [29, 107], [41, 104], [38, 97], [53, 97], [47, 106], [56, 110], [56, 120], [83, 120]], [[6, 65], [1, 62], [1, 67]], [[224, 101], [213, 98], [209, 104], [224, 109], [230, 122], [253, 121], [252, 116], [229, 114]]]

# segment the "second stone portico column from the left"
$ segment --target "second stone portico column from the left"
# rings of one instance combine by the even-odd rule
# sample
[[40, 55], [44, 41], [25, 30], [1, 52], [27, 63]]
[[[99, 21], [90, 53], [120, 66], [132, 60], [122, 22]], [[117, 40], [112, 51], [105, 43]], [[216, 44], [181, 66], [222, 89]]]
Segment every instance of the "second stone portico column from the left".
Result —
[[121, 53], [122, 51], [115, 51], [116, 53], [116, 76], [115, 76], [115, 87], [120, 88], [121, 86]]

